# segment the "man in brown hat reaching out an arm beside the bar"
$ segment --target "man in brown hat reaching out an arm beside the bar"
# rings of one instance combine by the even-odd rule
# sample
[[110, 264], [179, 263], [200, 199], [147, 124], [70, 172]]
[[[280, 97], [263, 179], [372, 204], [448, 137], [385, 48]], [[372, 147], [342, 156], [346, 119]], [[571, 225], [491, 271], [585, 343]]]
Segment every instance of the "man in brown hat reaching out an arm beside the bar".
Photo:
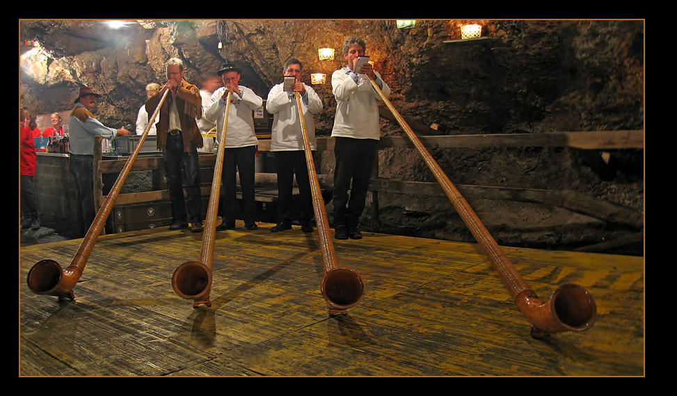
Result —
[[115, 129], [104, 126], [94, 117], [92, 112], [100, 94], [92, 88], [80, 88], [80, 94], [75, 99], [75, 108], [70, 113], [68, 128], [70, 133], [70, 161], [68, 169], [75, 178], [77, 188], [77, 226], [79, 233], [89, 229], [96, 217], [94, 208], [94, 138], [101, 136], [113, 140], [118, 135], [129, 135], [127, 129]]

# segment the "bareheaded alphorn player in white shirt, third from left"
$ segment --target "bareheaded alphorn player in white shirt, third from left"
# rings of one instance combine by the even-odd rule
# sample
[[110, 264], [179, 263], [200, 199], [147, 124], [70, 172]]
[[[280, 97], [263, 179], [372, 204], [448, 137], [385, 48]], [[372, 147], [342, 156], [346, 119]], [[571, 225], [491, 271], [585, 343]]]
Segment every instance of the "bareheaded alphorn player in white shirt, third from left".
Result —
[[312, 88], [301, 82], [303, 63], [300, 60], [296, 58], [287, 60], [283, 74], [285, 77], [294, 77], [291, 90], [285, 91], [284, 83], [275, 85], [271, 88], [268, 101], [266, 101], [266, 110], [274, 116], [271, 152], [273, 152], [273, 162], [278, 176], [278, 224], [271, 228], [271, 232], [292, 228], [294, 174], [296, 174], [301, 212], [298, 222], [301, 223], [301, 231], [312, 232], [312, 224], [310, 224], [314, 214], [312, 192], [310, 192], [308, 165], [305, 163], [303, 152], [303, 134], [301, 120], [298, 119], [296, 92], [301, 96], [303, 118], [312, 150], [317, 148], [312, 115], [322, 110], [322, 100]]

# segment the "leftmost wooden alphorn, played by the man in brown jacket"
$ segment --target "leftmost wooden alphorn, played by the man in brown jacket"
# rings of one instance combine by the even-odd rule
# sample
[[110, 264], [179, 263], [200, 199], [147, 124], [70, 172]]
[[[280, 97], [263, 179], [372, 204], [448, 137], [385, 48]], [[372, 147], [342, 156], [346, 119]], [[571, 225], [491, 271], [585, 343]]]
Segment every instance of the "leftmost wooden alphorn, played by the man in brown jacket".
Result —
[[28, 282], [29, 288], [31, 288], [35, 294], [53, 295], [58, 297], [58, 299], [63, 299], [65, 297], [72, 300], [75, 299], [73, 288], [76, 286], [85, 269], [92, 249], [94, 249], [97, 238], [99, 238], [99, 233], [101, 233], [101, 230], [106, 224], [106, 219], [113, 210], [113, 205], [120, 194], [120, 190], [122, 190], [122, 185], [125, 184], [125, 179], [127, 179], [127, 175], [129, 175], [129, 172], [132, 170], [134, 160], [136, 160], [136, 156], [138, 156], [138, 153], [141, 151], [143, 142], [145, 141], [146, 136], [148, 136], [148, 131], [150, 131], [150, 127], [154, 124], [155, 117], [157, 117], [168, 92], [169, 90], [166, 90], [164, 94], [162, 94], [157, 108], [155, 108], [152, 117], [148, 120], [148, 125], [145, 127], [141, 138], [139, 138], [136, 143], [134, 151], [132, 151], [132, 155], [127, 158], [125, 167], [122, 168], [122, 172], [120, 172], [120, 176], [118, 176], [116, 183], [113, 184], [113, 188], [111, 188], [111, 191], [106, 196], [106, 199], [104, 199], [102, 205], [99, 206], [99, 211], [97, 211], [94, 221], [90, 225], [82, 242], [80, 242], [80, 247], [70, 265], [63, 270], [61, 265], [54, 260], [42, 260], [31, 267], [26, 281]]

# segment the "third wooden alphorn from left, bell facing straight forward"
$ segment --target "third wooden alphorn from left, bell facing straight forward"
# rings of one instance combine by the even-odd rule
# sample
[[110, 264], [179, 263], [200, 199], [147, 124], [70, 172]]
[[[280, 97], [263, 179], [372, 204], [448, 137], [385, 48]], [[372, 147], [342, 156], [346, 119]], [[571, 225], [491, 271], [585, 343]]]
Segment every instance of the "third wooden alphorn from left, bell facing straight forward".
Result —
[[317, 180], [317, 171], [312, 158], [308, 129], [305, 128], [305, 117], [301, 107], [301, 96], [296, 93], [296, 107], [298, 119], [301, 122], [301, 135], [303, 135], [303, 149], [305, 151], [305, 164], [308, 166], [308, 179], [310, 179], [310, 192], [312, 194], [312, 209], [317, 223], [319, 246], [324, 264], [324, 275], [320, 283], [320, 291], [324, 297], [330, 315], [346, 313], [365, 297], [365, 282], [358, 272], [349, 267], [341, 267], [336, 259], [334, 242], [331, 239], [327, 210], [322, 199], [322, 192]]

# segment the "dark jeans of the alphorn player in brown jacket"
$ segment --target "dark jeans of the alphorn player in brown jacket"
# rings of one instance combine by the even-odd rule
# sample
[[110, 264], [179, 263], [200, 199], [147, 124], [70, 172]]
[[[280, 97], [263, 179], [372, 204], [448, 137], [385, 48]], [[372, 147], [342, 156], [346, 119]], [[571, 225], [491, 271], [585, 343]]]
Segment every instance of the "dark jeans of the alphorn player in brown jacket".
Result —
[[[165, 171], [167, 173], [167, 189], [172, 201], [173, 220], [186, 221], [186, 206], [188, 207], [189, 222], [199, 222], [202, 192], [200, 191], [200, 164], [198, 150], [184, 151], [181, 134], [167, 135], [167, 145], [162, 151]], [[187, 201], [184, 201], [181, 170], [186, 179]]]

